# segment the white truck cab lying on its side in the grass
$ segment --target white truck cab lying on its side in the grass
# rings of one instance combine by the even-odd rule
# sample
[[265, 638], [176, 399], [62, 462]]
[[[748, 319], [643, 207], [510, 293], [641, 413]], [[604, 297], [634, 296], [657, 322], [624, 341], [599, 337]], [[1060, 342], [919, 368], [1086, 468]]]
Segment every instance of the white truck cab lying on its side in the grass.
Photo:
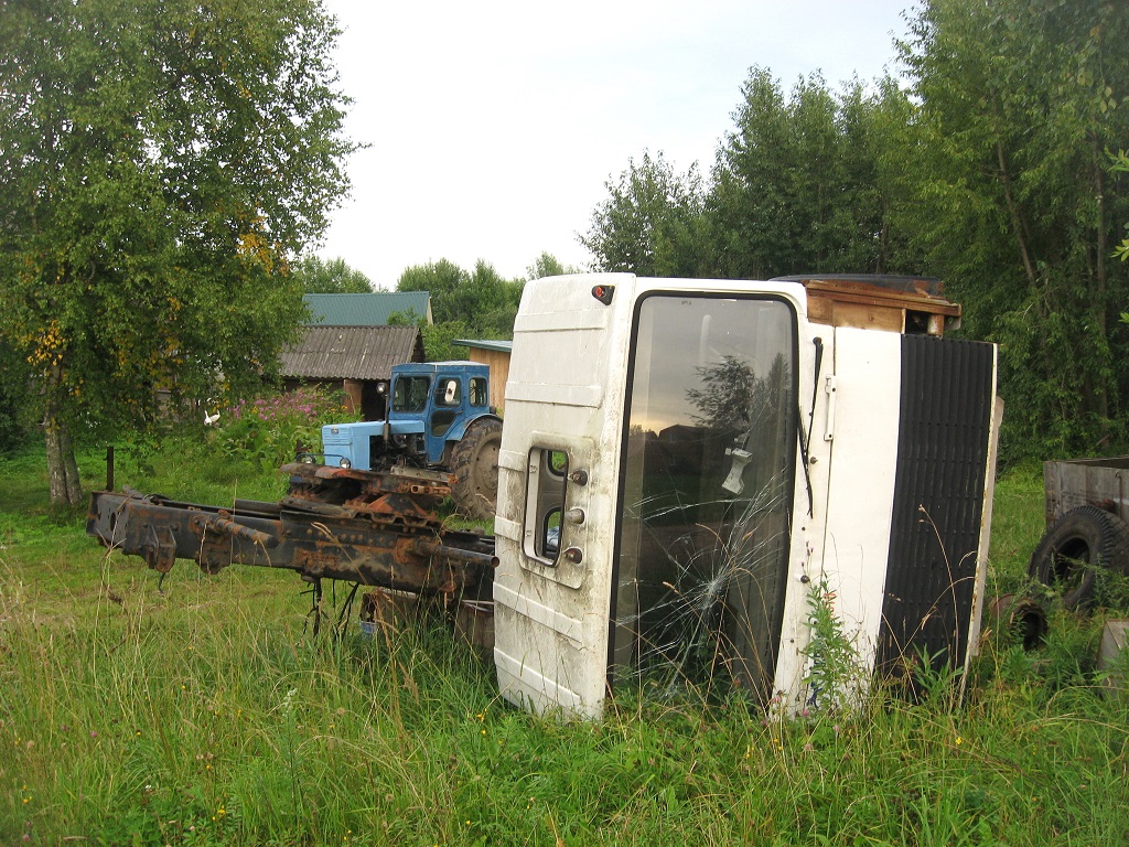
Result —
[[502, 695], [624, 688], [802, 708], [809, 600], [870, 669], [979, 638], [996, 349], [920, 278], [531, 281], [499, 454]]

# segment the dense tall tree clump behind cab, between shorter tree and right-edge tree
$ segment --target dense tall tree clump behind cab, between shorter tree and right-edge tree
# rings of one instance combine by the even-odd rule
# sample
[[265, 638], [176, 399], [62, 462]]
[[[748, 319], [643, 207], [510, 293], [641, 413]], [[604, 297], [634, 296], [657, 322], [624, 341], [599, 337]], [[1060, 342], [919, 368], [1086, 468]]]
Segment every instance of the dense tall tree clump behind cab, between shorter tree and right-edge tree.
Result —
[[835, 94], [819, 73], [788, 95], [754, 67], [718, 149], [709, 202], [720, 271], [729, 277], [887, 272], [892, 186], [881, 141], [905, 111], [901, 89], [858, 79]]

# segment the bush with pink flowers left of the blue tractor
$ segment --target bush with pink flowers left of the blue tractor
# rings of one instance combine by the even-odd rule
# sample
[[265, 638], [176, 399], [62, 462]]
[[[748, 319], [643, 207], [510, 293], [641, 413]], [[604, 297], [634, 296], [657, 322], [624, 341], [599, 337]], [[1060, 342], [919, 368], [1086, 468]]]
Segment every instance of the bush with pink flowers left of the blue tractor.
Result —
[[309, 387], [240, 401], [220, 413], [217, 445], [230, 459], [277, 471], [294, 461], [298, 445], [321, 453], [322, 426], [348, 416], [340, 392]]

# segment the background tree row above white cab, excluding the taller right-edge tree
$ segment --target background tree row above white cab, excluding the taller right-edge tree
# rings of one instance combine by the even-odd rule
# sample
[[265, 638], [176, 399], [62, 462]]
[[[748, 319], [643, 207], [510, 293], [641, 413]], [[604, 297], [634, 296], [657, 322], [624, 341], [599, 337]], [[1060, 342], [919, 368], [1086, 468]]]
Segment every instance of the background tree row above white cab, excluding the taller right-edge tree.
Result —
[[708, 184], [662, 154], [629, 163], [581, 237], [601, 270], [767, 279], [813, 271], [912, 270], [891, 232], [908, 98], [891, 79], [832, 93], [819, 75], [786, 96], [754, 67]]

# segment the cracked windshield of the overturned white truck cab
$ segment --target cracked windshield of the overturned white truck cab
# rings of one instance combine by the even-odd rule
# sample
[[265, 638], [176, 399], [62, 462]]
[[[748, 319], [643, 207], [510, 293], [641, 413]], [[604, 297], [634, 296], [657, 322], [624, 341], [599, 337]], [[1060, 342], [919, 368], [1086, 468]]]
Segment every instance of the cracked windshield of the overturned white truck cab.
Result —
[[613, 681], [763, 698], [780, 629], [797, 442], [781, 300], [651, 296], [636, 360]]

